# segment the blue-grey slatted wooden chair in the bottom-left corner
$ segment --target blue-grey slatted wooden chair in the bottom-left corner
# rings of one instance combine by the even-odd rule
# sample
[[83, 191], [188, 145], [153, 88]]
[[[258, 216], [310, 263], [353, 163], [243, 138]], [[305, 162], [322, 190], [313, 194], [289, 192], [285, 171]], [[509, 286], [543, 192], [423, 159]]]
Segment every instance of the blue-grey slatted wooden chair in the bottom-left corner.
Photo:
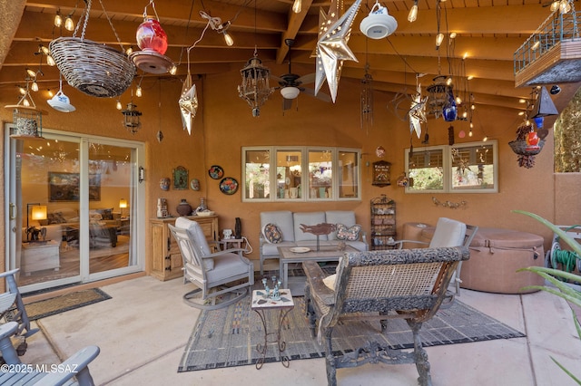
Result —
[[[87, 346], [59, 364], [26, 365], [20, 362], [15, 348], [10, 342], [10, 336], [14, 335], [17, 329], [18, 323], [16, 322], [0, 326], [0, 352], [2, 352], [2, 357], [7, 365], [7, 370], [0, 372], [0, 385], [94, 385], [88, 365], [99, 355], [99, 347]], [[44, 372], [42, 367], [45, 369]], [[10, 369], [16, 370], [10, 371]]]

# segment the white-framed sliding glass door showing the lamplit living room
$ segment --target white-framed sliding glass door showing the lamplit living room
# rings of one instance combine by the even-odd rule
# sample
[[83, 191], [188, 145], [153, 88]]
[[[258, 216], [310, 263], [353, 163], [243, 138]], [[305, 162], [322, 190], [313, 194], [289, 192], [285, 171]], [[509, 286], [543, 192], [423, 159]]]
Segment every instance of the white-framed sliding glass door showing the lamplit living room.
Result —
[[23, 292], [143, 270], [143, 144], [52, 130], [6, 142], [7, 268]]

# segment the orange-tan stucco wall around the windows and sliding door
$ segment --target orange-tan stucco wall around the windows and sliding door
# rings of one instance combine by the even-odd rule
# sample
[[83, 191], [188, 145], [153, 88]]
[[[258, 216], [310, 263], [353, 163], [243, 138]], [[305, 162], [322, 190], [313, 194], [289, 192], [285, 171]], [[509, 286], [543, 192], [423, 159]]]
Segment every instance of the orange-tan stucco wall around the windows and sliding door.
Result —
[[[285, 66], [267, 63], [272, 73], [284, 73]], [[240, 66], [241, 67], [241, 66]], [[310, 68], [294, 69], [307, 73]], [[65, 114], [51, 109], [45, 102], [47, 96], [34, 93], [34, 100], [49, 113], [44, 116], [44, 127], [58, 130], [84, 132], [107, 137], [139, 140], [146, 146], [145, 218], [155, 217], [157, 198], [167, 198], [172, 215], [182, 198], [192, 207], [207, 198], [208, 206], [220, 217], [221, 228], [234, 227], [234, 218], [241, 217], [243, 235], [249, 237], [255, 246], [251, 258], [258, 259], [258, 234], [260, 231], [259, 214], [263, 210], [289, 209], [293, 211], [349, 209], [355, 210], [359, 222], [369, 232], [369, 200], [386, 194], [397, 203], [399, 231], [405, 222], [421, 221], [435, 224], [438, 217], [453, 217], [481, 227], [506, 227], [530, 231], [545, 236], [548, 242], [550, 232], [534, 220], [511, 213], [511, 209], [533, 211], [543, 217], [555, 220], [573, 221], [574, 211], [562, 207], [575, 207], [577, 200], [573, 194], [559, 195], [555, 201], [555, 189], [571, 186], [561, 182], [553, 174], [553, 137], [549, 134], [545, 149], [537, 156], [536, 166], [532, 169], [519, 168], [517, 156], [507, 145], [515, 137], [521, 118], [515, 111], [487, 108], [477, 110], [474, 123], [474, 137], [458, 139], [458, 131], [468, 133], [468, 122], [454, 122], [456, 141], [467, 142], [489, 139], [498, 140], [499, 150], [499, 192], [497, 194], [439, 194], [440, 201], [458, 202], [466, 200], [468, 205], [458, 209], [437, 207], [432, 202], [433, 194], [405, 194], [398, 188], [395, 179], [404, 170], [404, 149], [409, 147], [409, 123], [401, 121], [393, 112], [394, 95], [385, 92], [375, 93], [374, 124], [369, 130], [359, 127], [359, 82], [341, 80], [336, 103], [326, 103], [301, 94], [299, 109], [296, 101], [291, 111], [282, 113], [281, 95], [275, 92], [262, 107], [261, 116], [251, 116], [251, 109], [241, 101], [236, 90], [240, 82], [237, 66], [227, 74], [211, 75], [198, 80], [200, 108], [193, 124], [192, 135], [182, 130], [182, 121], [177, 107], [182, 83], [173, 80], [143, 81], [143, 97], [133, 97], [138, 110], [143, 111], [143, 127], [132, 135], [121, 124], [122, 114], [114, 108], [115, 101], [85, 96], [70, 86], [65, 86], [67, 94], [76, 111]], [[428, 82], [428, 81], [426, 81]], [[327, 92], [323, 85], [322, 92]], [[129, 92], [123, 95], [126, 104]], [[15, 103], [16, 90], [0, 90], [0, 103]], [[478, 102], [478, 101], [477, 101]], [[12, 111], [1, 109], [2, 121], [12, 121]], [[448, 144], [449, 123], [442, 119], [428, 121], [429, 145]], [[162, 142], [156, 134], [163, 132]], [[421, 146], [420, 140], [413, 138], [414, 148]], [[222, 194], [219, 181], [210, 179], [207, 170], [217, 164], [222, 166], [225, 175], [241, 181], [241, 147], [258, 145], [325, 145], [334, 147], [360, 148], [363, 156], [362, 199], [358, 202], [320, 202], [320, 203], [242, 203], [241, 192], [233, 196]], [[370, 167], [367, 162], [379, 160], [375, 149], [383, 146], [385, 160], [392, 164], [390, 187], [379, 188], [371, 185]], [[1, 146], [4, 147], [4, 144]], [[4, 148], [2, 149], [4, 154]], [[172, 169], [183, 166], [189, 170], [190, 179], [200, 179], [202, 189], [162, 191], [159, 180], [171, 177]], [[4, 170], [4, 169], [3, 169]], [[569, 176], [567, 176], [568, 178]], [[579, 181], [578, 176], [570, 179]], [[578, 182], [575, 182], [578, 184]], [[4, 192], [0, 193], [4, 194]], [[556, 207], [559, 207], [556, 210]], [[3, 207], [4, 208], [4, 207]], [[4, 209], [2, 209], [4, 210]], [[578, 212], [577, 212], [578, 214]], [[576, 216], [578, 218], [578, 216]], [[4, 231], [4, 224], [0, 224]], [[147, 229], [146, 250], [150, 250], [149, 229]], [[147, 269], [150, 269], [149, 256]]]

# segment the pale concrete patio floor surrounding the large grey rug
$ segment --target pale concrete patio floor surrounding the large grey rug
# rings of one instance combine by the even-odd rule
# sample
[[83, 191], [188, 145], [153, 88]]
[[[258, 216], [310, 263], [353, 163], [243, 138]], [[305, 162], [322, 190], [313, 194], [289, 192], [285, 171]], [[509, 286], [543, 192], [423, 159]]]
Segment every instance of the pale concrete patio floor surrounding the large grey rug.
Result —
[[[177, 372], [199, 310], [182, 302], [192, 285], [182, 279], [160, 282], [143, 276], [100, 287], [113, 298], [33, 322], [41, 328], [28, 340], [22, 361], [61, 362], [95, 344], [100, 355], [91, 363], [99, 385], [326, 385], [322, 359], [266, 363], [200, 372]], [[527, 337], [428, 347], [432, 381], [449, 385], [575, 384], [551, 360], [581, 377], [581, 342], [571, 312], [560, 298], [535, 294], [487, 294], [463, 289], [463, 303], [526, 333]], [[368, 364], [338, 371], [340, 386], [416, 385], [414, 365]]]

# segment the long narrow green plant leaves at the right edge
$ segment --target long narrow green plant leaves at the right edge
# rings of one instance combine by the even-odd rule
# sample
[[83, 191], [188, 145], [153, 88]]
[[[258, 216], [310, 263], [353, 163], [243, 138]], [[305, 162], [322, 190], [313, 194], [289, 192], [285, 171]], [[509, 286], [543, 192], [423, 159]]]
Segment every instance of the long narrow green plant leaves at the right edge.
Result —
[[[555, 224], [534, 213], [526, 212], [523, 210], [513, 210], [513, 212], [520, 213], [528, 217], [533, 217], [540, 223], [550, 228], [553, 232], [555, 232], [557, 236], [560, 237], [562, 241], [566, 242], [566, 244], [570, 246], [571, 249], [573, 249], [573, 251], [575, 251], [577, 258], [580, 258], [579, 256], [581, 256], [581, 245], [579, 245], [579, 243], [576, 242], [575, 238], [568, 236], [563, 229], [561, 229], [560, 227], [556, 227]], [[519, 271], [534, 272], [537, 275], [541, 275], [543, 278], [545, 278], [545, 280], [547, 280], [552, 285], [555, 285], [555, 287], [548, 285], [530, 285], [527, 286], [527, 289], [536, 288], [541, 291], [546, 291], [550, 294], [556, 294], [556, 296], [565, 299], [569, 306], [570, 304], [576, 304], [577, 306], [581, 307], [581, 292], [576, 291], [569, 285], [566, 285], [566, 283], [557, 279], [561, 278], [572, 282], [581, 282], [581, 275], [571, 274], [554, 268], [546, 268], [544, 266], [530, 266], [528, 268], [519, 269]], [[573, 321], [575, 322], [577, 335], [579, 336], [579, 338], [581, 338], [581, 326], [579, 325], [579, 320], [573, 309], [571, 309], [571, 314], [573, 314]], [[569, 372], [561, 363], [556, 361], [555, 358], [551, 357], [551, 359], [553, 360], [553, 362], [556, 363], [557, 366], [563, 369], [563, 371], [566, 372], [569, 375], [569, 377], [576, 381], [578, 385], [581, 385], [581, 381], [578, 378], [576, 378], [576, 376], [573, 375], [573, 373]]]

